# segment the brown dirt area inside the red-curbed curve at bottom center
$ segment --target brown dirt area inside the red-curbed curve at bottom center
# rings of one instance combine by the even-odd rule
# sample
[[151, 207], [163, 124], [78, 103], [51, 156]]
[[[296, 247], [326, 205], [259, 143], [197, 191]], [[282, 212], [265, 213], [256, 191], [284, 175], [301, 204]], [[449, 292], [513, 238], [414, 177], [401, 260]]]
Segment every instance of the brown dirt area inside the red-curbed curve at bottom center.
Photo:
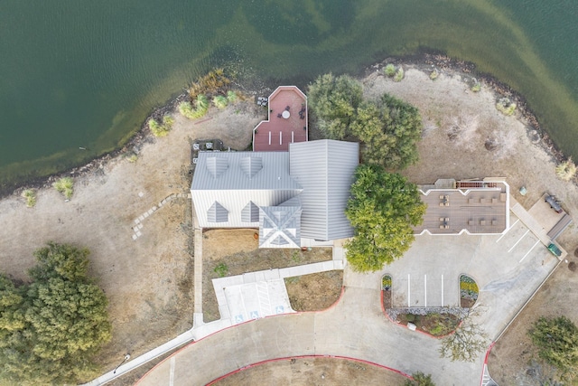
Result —
[[286, 385], [403, 385], [406, 377], [387, 369], [338, 358], [294, 358], [264, 363], [229, 375], [215, 386]]

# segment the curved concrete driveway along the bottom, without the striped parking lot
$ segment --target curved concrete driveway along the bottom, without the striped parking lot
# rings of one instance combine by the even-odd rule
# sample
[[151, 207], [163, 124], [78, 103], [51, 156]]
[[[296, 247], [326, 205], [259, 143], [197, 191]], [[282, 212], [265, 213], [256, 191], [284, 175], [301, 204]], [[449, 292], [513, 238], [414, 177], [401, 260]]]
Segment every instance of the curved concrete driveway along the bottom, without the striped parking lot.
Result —
[[475, 363], [441, 361], [439, 342], [394, 325], [382, 314], [379, 290], [346, 287], [340, 303], [322, 313], [280, 315], [237, 325], [190, 344], [138, 385], [199, 385], [251, 363], [304, 354], [342, 355], [402, 372], [435, 374], [443, 385], [479, 385]]

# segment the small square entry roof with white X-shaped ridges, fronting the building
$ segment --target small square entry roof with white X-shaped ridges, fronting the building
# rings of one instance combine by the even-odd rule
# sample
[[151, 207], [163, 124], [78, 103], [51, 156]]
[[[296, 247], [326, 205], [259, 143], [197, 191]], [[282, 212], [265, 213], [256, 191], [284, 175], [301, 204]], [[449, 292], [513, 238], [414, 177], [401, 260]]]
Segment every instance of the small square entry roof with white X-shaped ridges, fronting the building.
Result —
[[259, 248], [300, 248], [301, 207], [266, 206], [259, 210]]

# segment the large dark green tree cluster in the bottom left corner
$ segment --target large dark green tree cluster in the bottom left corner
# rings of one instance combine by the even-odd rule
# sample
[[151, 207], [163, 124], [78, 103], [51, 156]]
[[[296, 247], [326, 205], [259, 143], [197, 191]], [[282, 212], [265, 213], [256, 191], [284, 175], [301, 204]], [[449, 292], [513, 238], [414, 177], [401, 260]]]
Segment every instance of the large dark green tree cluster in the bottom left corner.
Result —
[[0, 381], [86, 381], [92, 356], [111, 337], [107, 297], [89, 278], [88, 249], [48, 243], [34, 256], [32, 283], [0, 276]]

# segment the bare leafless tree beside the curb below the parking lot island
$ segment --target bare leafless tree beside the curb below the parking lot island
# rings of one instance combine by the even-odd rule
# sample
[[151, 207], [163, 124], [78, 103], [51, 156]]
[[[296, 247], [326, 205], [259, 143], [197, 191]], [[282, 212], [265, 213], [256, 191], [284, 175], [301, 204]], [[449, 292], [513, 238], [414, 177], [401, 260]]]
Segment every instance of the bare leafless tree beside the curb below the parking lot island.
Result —
[[453, 334], [442, 339], [439, 349], [441, 357], [449, 358], [452, 362], [475, 362], [478, 355], [488, 347], [488, 335], [480, 325], [473, 322], [474, 315], [477, 312], [472, 310]]

